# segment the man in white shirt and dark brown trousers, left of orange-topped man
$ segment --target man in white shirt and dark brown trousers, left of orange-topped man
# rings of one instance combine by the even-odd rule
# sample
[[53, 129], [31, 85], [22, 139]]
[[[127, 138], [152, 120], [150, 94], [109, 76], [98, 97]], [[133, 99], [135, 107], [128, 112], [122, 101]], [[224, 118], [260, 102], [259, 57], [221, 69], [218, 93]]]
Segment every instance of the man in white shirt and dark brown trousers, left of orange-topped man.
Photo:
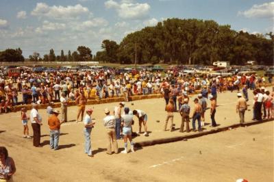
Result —
[[32, 129], [34, 131], [34, 146], [42, 147], [40, 144], [42, 118], [38, 114], [38, 105], [33, 103], [32, 111], [30, 112], [30, 121], [32, 122]]

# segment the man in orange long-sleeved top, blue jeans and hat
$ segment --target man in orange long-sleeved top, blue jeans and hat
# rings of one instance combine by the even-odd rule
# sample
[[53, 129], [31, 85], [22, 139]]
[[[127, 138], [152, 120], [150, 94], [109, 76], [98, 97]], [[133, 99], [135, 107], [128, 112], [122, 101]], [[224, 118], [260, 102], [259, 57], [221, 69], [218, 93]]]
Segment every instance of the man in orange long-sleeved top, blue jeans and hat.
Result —
[[53, 110], [53, 114], [49, 117], [49, 145], [54, 151], [58, 150], [59, 136], [60, 136], [60, 125], [62, 122], [58, 119], [60, 112], [58, 110]]

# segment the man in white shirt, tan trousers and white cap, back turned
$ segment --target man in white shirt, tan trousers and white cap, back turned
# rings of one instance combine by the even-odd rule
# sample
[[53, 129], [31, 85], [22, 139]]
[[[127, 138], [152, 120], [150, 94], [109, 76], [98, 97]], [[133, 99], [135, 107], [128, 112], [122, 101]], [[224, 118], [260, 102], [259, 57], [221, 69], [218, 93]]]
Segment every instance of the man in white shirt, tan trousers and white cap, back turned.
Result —
[[116, 133], [115, 133], [115, 117], [110, 115], [110, 110], [108, 108], [105, 109], [105, 118], [103, 118], [103, 125], [107, 130], [108, 136], [108, 146], [107, 146], [107, 154], [112, 154], [112, 148], [114, 148], [114, 153], [118, 153], [118, 144], [116, 141]]

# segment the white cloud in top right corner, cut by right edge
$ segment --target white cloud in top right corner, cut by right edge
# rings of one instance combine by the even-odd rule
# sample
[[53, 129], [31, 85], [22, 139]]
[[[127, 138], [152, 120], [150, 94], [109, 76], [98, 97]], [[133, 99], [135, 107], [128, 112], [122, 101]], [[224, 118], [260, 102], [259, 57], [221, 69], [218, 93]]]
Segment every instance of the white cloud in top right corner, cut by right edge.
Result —
[[252, 8], [244, 12], [238, 12], [247, 18], [274, 18], [274, 2], [253, 5]]

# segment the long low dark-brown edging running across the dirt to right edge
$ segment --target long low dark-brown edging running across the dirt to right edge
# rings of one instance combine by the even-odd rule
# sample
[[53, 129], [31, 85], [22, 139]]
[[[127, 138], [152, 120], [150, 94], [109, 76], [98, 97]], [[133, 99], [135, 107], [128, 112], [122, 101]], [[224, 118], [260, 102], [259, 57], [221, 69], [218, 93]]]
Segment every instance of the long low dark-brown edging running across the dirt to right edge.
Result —
[[271, 121], [273, 121], [273, 119], [272, 120], [262, 120], [262, 121], [251, 121], [251, 122], [238, 123], [238, 124], [229, 125], [226, 127], [218, 127], [216, 129], [211, 129], [210, 131], [201, 131], [200, 133], [193, 133], [193, 134], [183, 135], [183, 136], [160, 138], [160, 139], [155, 139], [155, 140], [146, 140], [146, 141], [142, 141], [142, 142], [136, 142], [134, 146], [136, 146], [137, 148], [138, 147], [140, 148], [143, 146], [153, 146], [155, 144], [166, 144], [166, 143], [170, 143], [170, 142], [178, 142], [178, 141], [182, 141], [182, 140], [188, 140], [191, 138], [198, 138], [203, 135], [210, 135], [213, 133], [219, 133], [222, 131], [236, 129], [238, 127], [249, 127], [252, 125], [260, 125], [264, 122], [271, 122]]

